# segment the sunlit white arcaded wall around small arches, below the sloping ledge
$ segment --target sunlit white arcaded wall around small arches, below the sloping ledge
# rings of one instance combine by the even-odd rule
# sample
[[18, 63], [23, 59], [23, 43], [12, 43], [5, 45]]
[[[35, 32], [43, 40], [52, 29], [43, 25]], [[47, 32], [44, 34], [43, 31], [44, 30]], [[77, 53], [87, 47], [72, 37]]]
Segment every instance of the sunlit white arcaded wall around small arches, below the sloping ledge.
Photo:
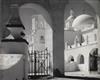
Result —
[[77, 62], [78, 55], [82, 54], [84, 56], [84, 64], [79, 64], [79, 69], [84, 72], [89, 71], [89, 53], [92, 49], [97, 48], [97, 43], [89, 44], [86, 46], [81, 46], [78, 48], [73, 48], [69, 50], [65, 50], [65, 65], [68, 61], [68, 57], [72, 55], [74, 57], [74, 61]]

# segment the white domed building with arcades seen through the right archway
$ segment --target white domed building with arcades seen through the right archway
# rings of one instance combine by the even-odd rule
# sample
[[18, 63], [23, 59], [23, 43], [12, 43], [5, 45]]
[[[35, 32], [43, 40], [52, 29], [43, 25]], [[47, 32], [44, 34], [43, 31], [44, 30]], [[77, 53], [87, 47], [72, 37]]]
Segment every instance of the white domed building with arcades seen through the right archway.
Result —
[[[70, 17], [72, 20], [73, 17]], [[69, 18], [68, 18], [69, 19]], [[90, 72], [98, 70], [98, 37], [96, 20], [81, 14], [65, 26], [65, 71]], [[70, 26], [68, 25], [70, 24]], [[66, 28], [68, 27], [68, 28]], [[66, 36], [67, 35], [67, 36]], [[72, 35], [72, 36], [70, 36]], [[72, 62], [76, 63], [71, 67]], [[76, 66], [76, 67], [75, 67]]]

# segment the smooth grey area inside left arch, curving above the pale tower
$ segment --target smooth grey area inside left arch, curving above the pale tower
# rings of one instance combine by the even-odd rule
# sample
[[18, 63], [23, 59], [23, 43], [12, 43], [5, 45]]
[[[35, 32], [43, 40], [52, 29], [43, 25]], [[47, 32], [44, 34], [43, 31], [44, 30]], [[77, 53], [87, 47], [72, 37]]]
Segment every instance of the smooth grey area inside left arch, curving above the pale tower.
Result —
[[19, 8], [19, 15], [21, 18], [22, 23], [24, 24], [26, 28], [26, 33], [29, 34], [30, 30], [29, 28], [32, 26], [32, 16], [33, 15], [42, 15], [46, 22], [52, 27], [52, 22], [50, 15], [47, 10], [45, 10], [42, 6], [34, 3], [26, 3]]

